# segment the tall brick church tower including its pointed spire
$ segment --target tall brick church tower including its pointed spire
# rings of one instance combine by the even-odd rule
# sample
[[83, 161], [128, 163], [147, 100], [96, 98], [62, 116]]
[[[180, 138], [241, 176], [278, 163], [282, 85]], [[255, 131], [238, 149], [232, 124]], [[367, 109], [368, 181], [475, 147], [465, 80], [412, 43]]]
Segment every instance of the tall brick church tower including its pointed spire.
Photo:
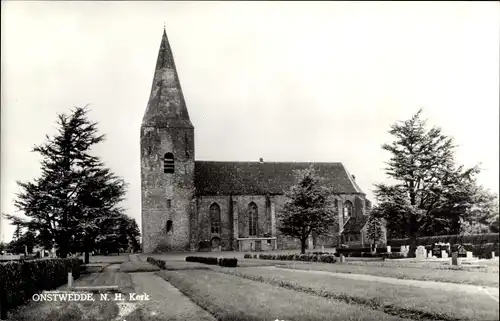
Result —
[[194, 127], [163, 30], [141, 125], [143, 251], [190, 250]]

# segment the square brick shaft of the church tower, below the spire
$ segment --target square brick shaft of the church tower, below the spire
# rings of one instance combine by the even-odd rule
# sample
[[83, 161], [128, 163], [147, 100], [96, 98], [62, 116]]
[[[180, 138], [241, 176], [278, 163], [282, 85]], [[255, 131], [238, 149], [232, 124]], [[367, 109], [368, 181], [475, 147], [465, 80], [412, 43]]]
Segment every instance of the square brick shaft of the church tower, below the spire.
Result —
[[[163, 172], [163, 155], [174, 154], [175, 172]], [[141, 129], [143, 251], [190, 249], [194, 192], [194, 130]], [[169, 201], [170, 200], [170, 201]], [[172, 230], [167, 233], [167, 221]]]

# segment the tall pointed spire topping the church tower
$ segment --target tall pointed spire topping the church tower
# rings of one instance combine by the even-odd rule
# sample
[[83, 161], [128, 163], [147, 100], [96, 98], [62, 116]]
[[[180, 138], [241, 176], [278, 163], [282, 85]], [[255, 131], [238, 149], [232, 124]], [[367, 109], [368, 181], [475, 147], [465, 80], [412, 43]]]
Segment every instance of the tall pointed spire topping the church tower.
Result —
[[193, 128], [175, 67], [167, 32], [163, 29], [143, 127]]

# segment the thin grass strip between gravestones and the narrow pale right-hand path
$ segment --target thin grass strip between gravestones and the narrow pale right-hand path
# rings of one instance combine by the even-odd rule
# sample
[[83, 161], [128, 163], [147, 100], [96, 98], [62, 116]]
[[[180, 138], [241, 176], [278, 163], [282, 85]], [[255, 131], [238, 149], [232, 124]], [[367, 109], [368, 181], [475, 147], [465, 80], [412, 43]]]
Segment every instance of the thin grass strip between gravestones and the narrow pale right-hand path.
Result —
[[[249, 259], [251, 260], [251, 259]], [[386, 276], [397, 279], [437, 281], [461, 284], [473, 284], [482, 286], [499, 286], [497, 273], [454, 271], [410, 267], [388, 267], [374, 265], [354, 265], [354, 264], [327, 264], [327, 263], [307, 263], [283, 261], [283, 267], [301, 270], [330, 271], [337, 273], [355, 273], [376, 276]], [[239, 262], [238, 262], [239, 264]]]

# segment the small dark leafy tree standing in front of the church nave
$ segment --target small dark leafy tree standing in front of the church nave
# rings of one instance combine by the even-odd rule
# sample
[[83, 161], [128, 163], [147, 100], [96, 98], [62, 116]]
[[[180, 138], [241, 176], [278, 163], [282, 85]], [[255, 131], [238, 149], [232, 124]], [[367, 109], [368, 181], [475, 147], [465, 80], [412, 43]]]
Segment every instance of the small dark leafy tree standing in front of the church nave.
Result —
[[298, 171], [297, 183], [285, 193], [287, 201], [277, 213], [278, 229], [284, 235], [300, 240], [301, 253], [312, 233], [328, 234], [337, 221], [332, 191], [313, 168]]

